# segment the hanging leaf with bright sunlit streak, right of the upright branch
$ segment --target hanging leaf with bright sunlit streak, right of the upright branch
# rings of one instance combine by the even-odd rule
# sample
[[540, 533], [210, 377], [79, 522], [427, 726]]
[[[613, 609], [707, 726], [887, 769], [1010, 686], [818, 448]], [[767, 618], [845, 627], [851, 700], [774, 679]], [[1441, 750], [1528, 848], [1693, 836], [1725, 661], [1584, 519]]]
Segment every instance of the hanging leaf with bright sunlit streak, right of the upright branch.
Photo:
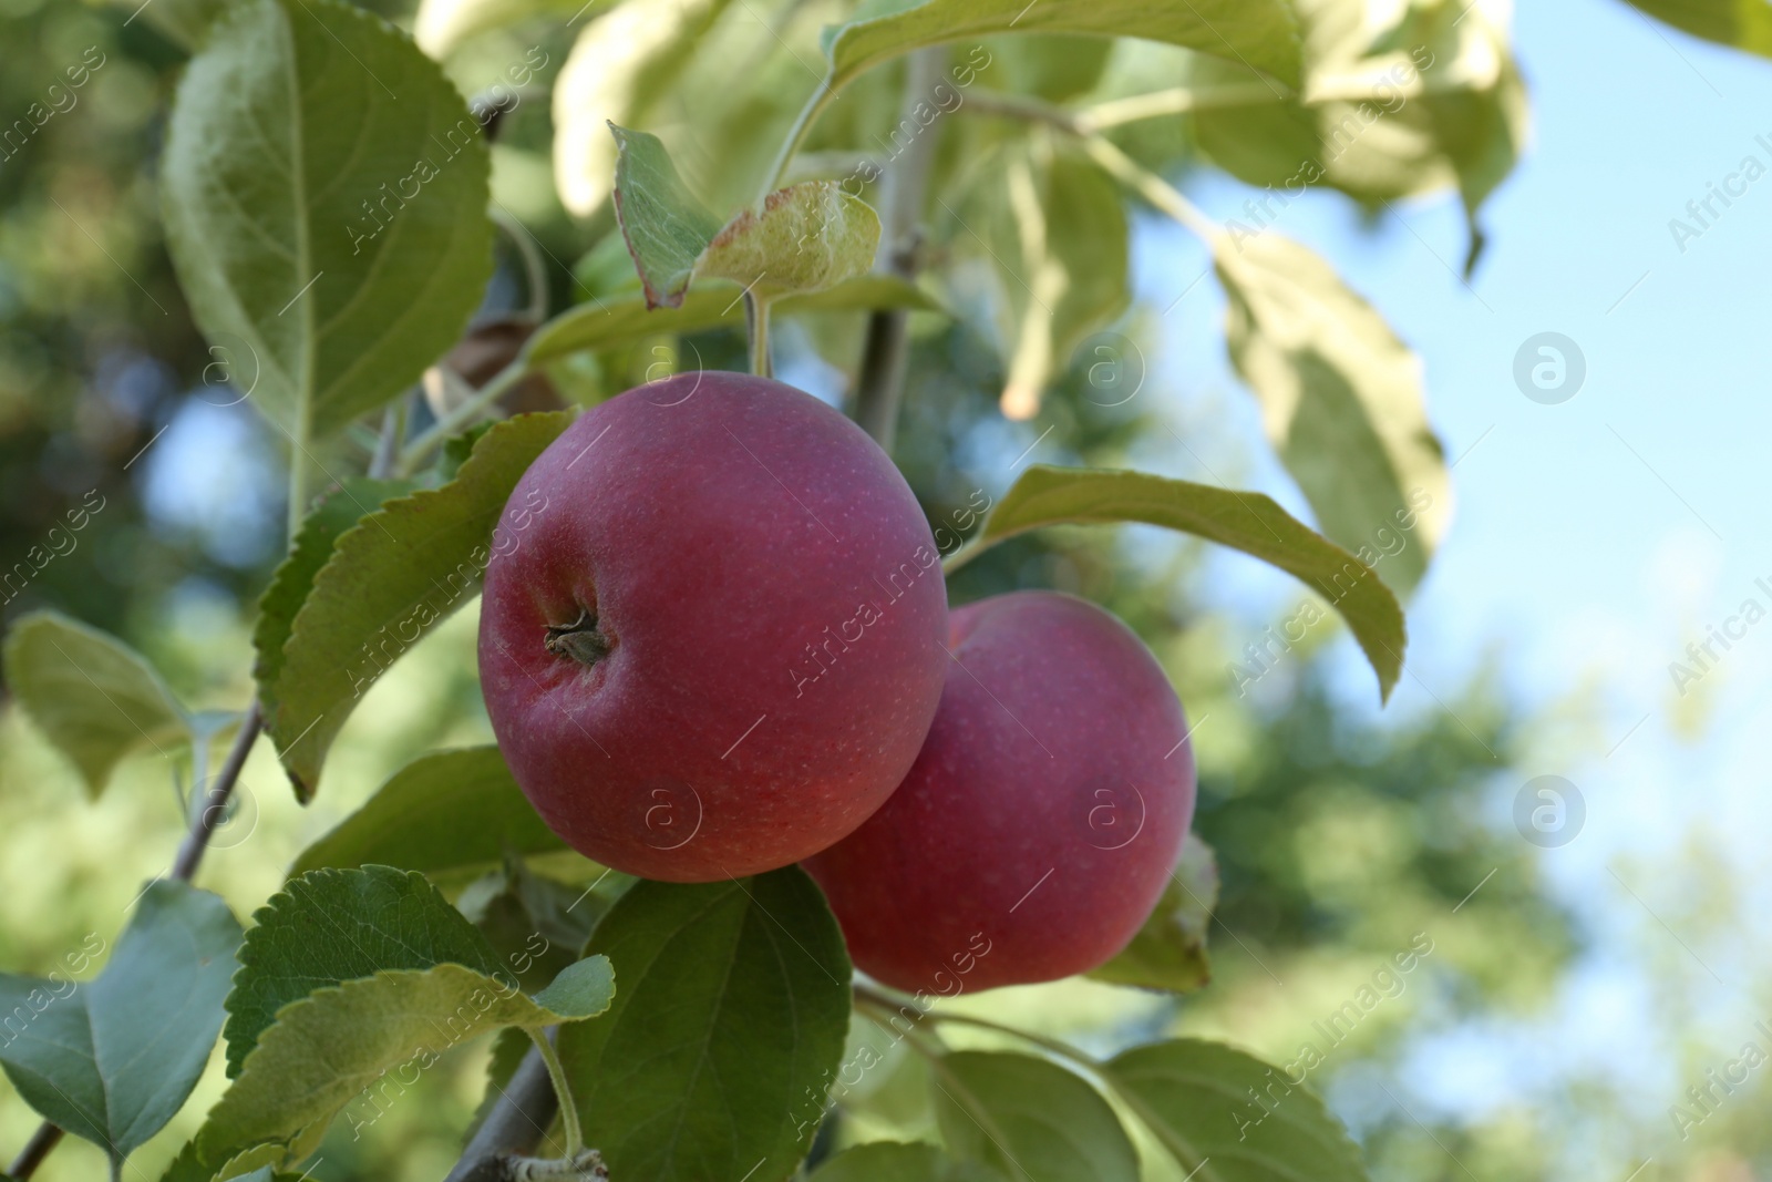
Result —
[[1100, 165], [1049, 142], [1008, 147], [982, 172], [955, 248], [982, 252], [996, 271], [1010, 354], [1003, 413], [1031, 418], [1077, 344], [1132, 298], [1125, 209]]

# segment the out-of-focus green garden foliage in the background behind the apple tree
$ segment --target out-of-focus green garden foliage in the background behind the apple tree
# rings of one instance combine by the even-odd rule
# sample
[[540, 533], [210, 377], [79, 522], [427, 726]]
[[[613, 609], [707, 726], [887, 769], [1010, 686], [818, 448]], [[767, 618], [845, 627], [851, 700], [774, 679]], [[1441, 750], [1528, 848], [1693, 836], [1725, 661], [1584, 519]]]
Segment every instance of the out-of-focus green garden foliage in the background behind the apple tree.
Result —
[[[7, 145], [0, 159], [0, 564], [21, 562], [43, 546], [89, 491], [105, 502], [73, 546], [5, 603], [5, 618], [34, 606], [60, 608], [126, 636], [193, 705], [239, 709], [250, 695], [252, 608], [282, 537], [280, 459], [248, 409], [220, 406], [225, 399], [206, 381], [214, 358], [174, 285], [154, 197], [165, 108], [183, 53], [151, 19], [131, 19], [129, 7], [0, 0], [5, 119], [43, 101], [89, 48], [105, 62], [73, 92], [67, 110], [16, 149]], [[696, 168], [693, 144], [750, 161], [723, 168], [721, 183], [758, 172], [806, 87], [804, 66], [776, 53], [757, 18], [739, 12], [744, 7], [721, 25], [730, 44], [703, 48], [684, 89], [654, 115], [675, 128], [672, 147], [693, 183], [712, 181], [707, 168]], [[785, 5], [783, 19], [815, 21], [820, 11]], [[484, 37], [452, 60], [452, 73], [471, 94], [532, 46], [548, 57], [546, 80], [565, 62], [571, 34], [540, 19]], [[1017, 57], [996, 43], [992, 50], [1005, 58], [1001, 71], [1021, 71], [992, 85], [1047, 97], [1088, 87], [1100, 69], [1083, 57], [1054, 57], [1051, 46]], [[1129, 69], [1161, 69], [1161, 53], [1138, 50], [1125, 60]], [[781, 101], [730, 103], [730, 80], [757, 71], [760, 82], [744, 94], [780, 94]], [[897, 80], [898, 71], [886, 69], [858, 83], [808, 144], [813, 159], [829, 144], [865, 140], [890, 126]], [[1129, 83], [1118, 76], [1115, 85]], [[608, 211], [572, 222], [560, 207], [548, 181], [544, 97], [525, 99], [500, 135], [494, 197], [533, 230], [549, 262], [553, 303], [562, 307], [574, 292], [569, 264], [610, 230]], [[957, 122], [937, 172], [978, 158], [994, 135], [987, 121]], [[1187, 168], [1191, 145], [1178, 121], [1138, 124], [1122, 142], [1171, 174]], [[728, 207], [748, 197], [741, 188], [703, 188], [703, 197]], [[517, 261], [507, 257], [494, 305], [516, 301], [516, 273]], [[1146, 315], [1134, 307], [1122, 326], [1139, 335]], [[801, 363], [829, 377], [831, 365], [851, 365], [859, 347], [856, 323], [808, 321], [783, 333], [783, 370], [792, 374]], [[734, 333], [691, 344], [711, 367], [742, 365]], [[594, 390], [622, 381], [620, 367], [602, 358]], [[1008, 482], [1003, 464], [1021, 445], [1006, 443], [1022, 436], [1006, 434], [998, 416], [1003, 385], [991, 342], [962, 324], [918, 323], [897, 459], [937, 525], [959, 525], [976, 507], [980, 484], [999, 489]], [[1161, 390], [1116, 408], [1090, 395], [1079, 362], [1049, 395], [1042, 422], [1053, 434], [1042, 459], [1116, 464], [1150, 439], [1162, 445]], [[175, 447], [193, 424], [209, 432], [198, 432], [198, 441], [225, 447], [234, 463], [216, 463], [202, 447]], [[204, 468], [167, 471], [156, 448], [179, 464], [204, 461]], [[1235, 457], [1224, 461], [1224, 470], [1235, 468]], [[197, 500], [168, 491], [191, 480], [209, 482]], [[1313, 1086], [1356, 1124], [1379, 1178], [1565, 1177], [1566, 1159], [1552, 1145], [1556, 1122], [1570, 1113], [1503, 1108], [1465, 1125], [1437, 1109], [1386, 1104], [1384, 1093], [1373, 1102], [1373, 1081], [1409, 1100], [1403, 1061], [1425, 1035], [1542, 1010], [1579, 948], [1570, 914], [1538, 879], [1535, 851], [1504, 817], [1497, 822], [1496, 803], [1512, 796], [1506, 773], [1533, 741], [1533, 719], [1520, 716], [1494, 677], [1446, 693], [1441, 711], [1350, 719], [1331, 688], [1329, 670], [1345, 645], [1329, 642], [1336, 626], [1288, 654], [1258, 693], [1240, 696], [1228, 666], [1260, 627], [1201, 611], [1216, 571], [1187, 540], [1136, 530], [1053, 530], [989, 551], [953, 581], [955, 603], [1014, 587], [1060, 587], [1104, 603], [1145, 636], [1200, 727], [1196, 829], [1216, 849], [1223, 874], [1207, 991], [1173, 1001], [1074, 980], [959, 1007], [1084, 1046], [1184, 1030], [1290, 1061], [1302, 1042], [1322, 1042], [1318, 1021], [1421, 934], [1432, 953], [1398, 978], [1403, 987], [1395, 999], [1386, 994], [1370, 1021], [1327, 1049], [1311, 1072]], [[475, 610], [448, 620], [367, 695], [331, 757], [330, 790], [310, 810], [294, 805], [260, 744], [204, 884], [245, 920], [296, 852], [393, 769], [438, 746], [489, 741], [475, 680]], [[113, 939], [140, 884], [172, 856], [183, 819], [168, 789], [190, 789], [188, 774], [188, 766], [136, 758], [94, 805], [74, 769], [14, 709], [0, 714], [0, 964], [44, 971], [89, 932]], [[1676, 1010], [1692, 1001], [1671, 994], [1666, 1005]], [[486, 1053], [480, 1046], [448, 1058], [361, 1136], [335, 1129], [314, 1177], [441, 1177], [478, 1102]], [[135, 1159], [131, 1177], [156, 1177], [195, 1129], [220, 1095], [220, 1058], [184, 1113]], [[1694, 1049], [1675, 1058], [1682, 1079], [1710, 1065]], [[891, 1122], [840, 1129], [838, 1138], [927, 1131], [927, 1104], [905, 1085], [914, 1072], [895, 1069], [874, 1085]], [[1620, 1104], [1605, 1079], [1581, 1081], [1566, 1097], [1568, 1109], [1588, 1116]], [[0, 1093], [0, 1152], [14, 1152], [34, 1125], [11, 1090]], [[1772, 1134], [1751, 1100], [1706, 1122], [1699, 1143], [1735, 1148], [1703, 1150], [1689, 1171], [1657, 1168], [1644, 1182], [1749, 1178], [1749, 1157], [1763, 1161], [1772, 1152]], [[67, 1145], [37, 1177], [67, 1182], [101, 1168], [96, 1150]]]

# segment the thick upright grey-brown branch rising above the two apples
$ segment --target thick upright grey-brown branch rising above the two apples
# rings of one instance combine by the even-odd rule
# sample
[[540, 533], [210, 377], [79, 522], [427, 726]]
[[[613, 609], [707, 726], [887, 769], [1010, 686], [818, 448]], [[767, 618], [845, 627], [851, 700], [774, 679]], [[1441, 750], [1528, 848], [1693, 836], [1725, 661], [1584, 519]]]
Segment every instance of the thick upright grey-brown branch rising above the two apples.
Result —
[[[929, 190], [929, 170], [936, 163], [936, 131], [939, 119], [923, 126], [916, 108], [941, 82], [948, 64], [946, 48], [918, 50], [905, 69], [904, 99], [898, 108], [898, 126], [916, 128], [904, 151], [888, 161], [884, 193], [884, 271], [900, 278], [914, 278], [920, 253], [918, 222], [923, 216], [923, 193]], [[867, 346], [861, 353], [861, 372], [856, 379], [856, 422], [874, 436], [884, 450], [891, 450], [898, 431], [898, 400], [904, 395], [905, 354], [909, 353], [904, 308], [877, 308], [868, 317]]]

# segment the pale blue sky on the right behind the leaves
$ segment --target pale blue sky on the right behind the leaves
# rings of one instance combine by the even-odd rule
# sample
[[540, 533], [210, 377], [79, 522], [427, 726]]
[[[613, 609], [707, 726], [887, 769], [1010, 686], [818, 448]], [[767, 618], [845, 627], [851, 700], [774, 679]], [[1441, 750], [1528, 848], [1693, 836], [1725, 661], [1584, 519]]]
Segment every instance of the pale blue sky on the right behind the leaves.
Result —
[[[1533, 133], [1483, 211], [1490, 246], [1469, 287], [1453, 273], [1464, 222], [1449, 197], [1403, 204], [1373, 227], [1345, 198], [1313, 193], [1285, 211], [1279, 230], [1327, 255], [1419, 351], [1432, 420], [1462, 457], [1451, 533], [1411, 604], [1412, 677], [1391, 711], [1434, 709], [1494, 654], [1527, 704], [1586, 693], [1600, 705], [1597, 734], [1543, 744], [1535, 766], [1499, 778], [1494, 801], [1506, 826], [1529, 776], [1563, 774], [1582, 790], [1586, 828], [1540, 858], [1582, 913], [1591, 955], [1527, 1028], [1480, 1024], [1430, 1042], [1412, 1085], [1446, 1111], [1474, 1115], [1535, 1093], [1550, 1104], [1570, 1074], [1613, 1076], [1644, 1116], [1607, 1150], [1623, 1177], [1641, 1161], [1623, 1161], [1632, 1141], [1641, 1154], [1673, 1152], [1662, 1145], [1669, 1092], [1690, 1083], [1667, 1056], [1657, 975], [1678, 975], [1719, 1047], [1738, 1047], [1756, 1017], [1753, 934], [1690, 918], [1698, 888], [1678, 856], [1698, 835], [1744, 897], [1765, 902], [1753, 881], [1765, 877], [1772, 820], [1772, 618], [1701, 682], [1708, 711], [1696, 728], [1676, 723], [1667, 665], [1749, 595], [1772, 610], [1772, 592], [1754, 587], [1761, 576], [1772, 587], [1761, 487], [1772, 147], [1754, 138], [1772, 144], [1772, 62], [1653, 25], [1616, 0], [1526, 5], [1515, 43]], [[1692, 223], [1687, 202], [1744, 156], [1768, 175], [1682, 252], [1669, 220]], [[1223, 220], [1247, 190], [1201, 179], [1189, 197]], [[1175, 227], [1152, 222], [1143, 234], [1139, 287], [1164, 307], [1205, 255]], [[1166, 324], [1159, 397], [1173, 399], [1178, 429], [1209, 441], [1228, 432], [1255, 452], [1260, 425], [1224, 367], [1221, 315], [1214, 292], [1170, 317], [1178, 323]], [[1586, 360], [1581, 392], [1556, 406], [1513, 381], [1515, 353], [1542, 331], [1566, 335]], [[1177, 471], [1203, 478], [1185, 468]], [[1306, 512], [1274, 464], [1240, 480]], [[1253, 629], [1297, 597], [1253, 564], [1223, 567], [1223, 599], [1242, 604]], [[1348, 700], [1363, 709], [1372, 675], [1352, 645], [1343, 650]]]

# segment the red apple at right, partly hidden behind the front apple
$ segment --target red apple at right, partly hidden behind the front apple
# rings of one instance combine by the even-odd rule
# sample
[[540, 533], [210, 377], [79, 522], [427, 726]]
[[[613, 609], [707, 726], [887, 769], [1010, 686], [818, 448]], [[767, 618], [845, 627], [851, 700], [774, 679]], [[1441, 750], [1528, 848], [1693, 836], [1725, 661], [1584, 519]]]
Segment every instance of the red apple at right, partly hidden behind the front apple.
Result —
[[948, 617], [953, 663], [886, 805], [804, 867], [856, 968], [907, 992], [1056, 980], [1150, 914], [1194, 810], [1182, 704], [1118, 618], [1056, 592]]

